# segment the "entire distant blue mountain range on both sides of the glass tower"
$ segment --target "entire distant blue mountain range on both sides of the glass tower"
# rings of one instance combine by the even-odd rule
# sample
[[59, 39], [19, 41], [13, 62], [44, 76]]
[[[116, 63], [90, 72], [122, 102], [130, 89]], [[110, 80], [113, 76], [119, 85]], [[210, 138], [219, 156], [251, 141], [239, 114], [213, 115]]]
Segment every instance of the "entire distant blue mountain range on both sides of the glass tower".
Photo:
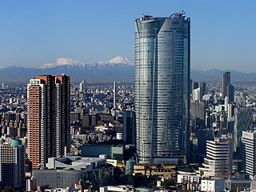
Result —
[[[256, 82], [256, 72], [230, 71], [231, 81]], [[222, 81], [223, 70], [191, 69], [194, 81]], [[0, 69], [0, 82], [28, 82], [38, 74], [67, 74], [71, 82], [134, 82], [134, 64], [125, 57], [116, 57], [108, 62], [85, 64], [70, 58], [59, 58], [57, 63], [46, 64], [45, 68], [9, 66]]]

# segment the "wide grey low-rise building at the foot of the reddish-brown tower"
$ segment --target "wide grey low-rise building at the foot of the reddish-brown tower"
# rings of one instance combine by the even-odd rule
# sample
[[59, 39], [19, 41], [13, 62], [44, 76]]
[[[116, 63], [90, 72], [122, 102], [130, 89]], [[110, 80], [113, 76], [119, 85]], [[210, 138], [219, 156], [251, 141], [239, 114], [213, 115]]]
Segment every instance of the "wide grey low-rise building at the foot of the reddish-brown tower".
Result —
[[114, 166], [107, 164], [106, 155], [100, 155], [99, 158], [48, 158], [46, 169], [33, 170], [33, 176], [36, 186], [75, 187], [81, 180], [107, 186], [114, 182]]

